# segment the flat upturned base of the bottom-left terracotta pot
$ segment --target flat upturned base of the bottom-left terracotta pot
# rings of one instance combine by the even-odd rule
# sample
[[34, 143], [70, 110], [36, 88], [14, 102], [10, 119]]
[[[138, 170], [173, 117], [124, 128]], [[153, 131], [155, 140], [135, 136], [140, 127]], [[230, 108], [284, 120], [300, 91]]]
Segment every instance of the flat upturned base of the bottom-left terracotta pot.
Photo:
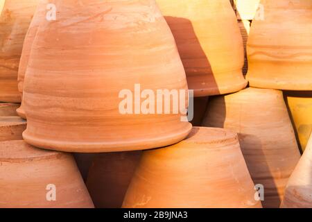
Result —
[[0, 162], [47, 160], [61, 155], [65, 155], [65, 153], [36, 148], [26, 144], [24, 140], [0, 142]]

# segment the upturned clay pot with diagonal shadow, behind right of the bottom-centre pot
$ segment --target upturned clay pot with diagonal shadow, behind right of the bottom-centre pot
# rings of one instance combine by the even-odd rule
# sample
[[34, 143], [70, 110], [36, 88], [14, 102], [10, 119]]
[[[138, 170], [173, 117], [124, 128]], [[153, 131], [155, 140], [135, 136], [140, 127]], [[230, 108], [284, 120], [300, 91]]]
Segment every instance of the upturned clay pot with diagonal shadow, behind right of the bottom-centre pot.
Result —
[[239, 133], [252, 180], [264, 186], [263, 207], [279, 207], [300, 159], [282, 92], [250, 87], [211, 98], [202, 125]]

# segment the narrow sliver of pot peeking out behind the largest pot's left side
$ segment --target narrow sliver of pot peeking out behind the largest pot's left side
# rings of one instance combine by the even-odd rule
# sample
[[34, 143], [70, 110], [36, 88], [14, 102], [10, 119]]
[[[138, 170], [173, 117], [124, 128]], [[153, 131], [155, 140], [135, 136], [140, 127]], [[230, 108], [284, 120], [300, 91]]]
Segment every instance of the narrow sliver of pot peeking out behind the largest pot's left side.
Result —
[[19, 71], [17, 75], [17, 83], [18, 90], [21, 94], [21, 106], [16, 110], [19, 117], [26, 119], [26, 114], [24, 111], [24, 103], [23, 103], [23, 85], [24, 85], [24, 76], [26, 73], [26, 69], [28, 67], [28, 60], [31, 54], [31, 49], [33, 47], [33, 40], [35, 40], [35, 35], [37, 34], [37, 29], [39, 27], [40, 22], [45, 19], [46, 15], [46, 6], [49, 3], [48, 0], [41, 0], [38, 3], [37, 9], [35, 11], [35, 15], [33, 16], [33, 20], [31, 21], [31, 25], [28, 28], [26, 33], [26, 37], [24, 40], [23, 49], [21, 51], [21, 59], [19, 61]]

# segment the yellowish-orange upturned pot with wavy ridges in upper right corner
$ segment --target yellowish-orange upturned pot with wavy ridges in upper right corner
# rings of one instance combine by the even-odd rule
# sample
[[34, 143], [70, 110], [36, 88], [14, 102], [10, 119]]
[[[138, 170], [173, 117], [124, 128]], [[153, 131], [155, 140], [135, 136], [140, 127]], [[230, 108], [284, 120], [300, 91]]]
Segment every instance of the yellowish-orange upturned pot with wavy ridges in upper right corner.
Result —
[[312, 1], [262, 0], [248, 39], [248, 80], [253, 87], [312, 89]]

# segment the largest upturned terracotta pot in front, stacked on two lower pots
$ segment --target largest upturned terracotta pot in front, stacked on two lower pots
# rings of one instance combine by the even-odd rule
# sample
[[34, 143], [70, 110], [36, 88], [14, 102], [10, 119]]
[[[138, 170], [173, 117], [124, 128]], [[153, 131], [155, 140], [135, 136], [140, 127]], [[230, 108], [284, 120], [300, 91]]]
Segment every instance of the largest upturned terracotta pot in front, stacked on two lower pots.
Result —
[[173, 35], [155, 1], [51, 3], [56, 20], [40, 23], [24, 79], [26, 142], [101, 153], [166, 146], [187, 137], [191, 123], [181, 121], [184, 112], [156, 112], [168, 105], [153, 99], [158, 89], [184, 94], [183, 108], [188, 98]]

